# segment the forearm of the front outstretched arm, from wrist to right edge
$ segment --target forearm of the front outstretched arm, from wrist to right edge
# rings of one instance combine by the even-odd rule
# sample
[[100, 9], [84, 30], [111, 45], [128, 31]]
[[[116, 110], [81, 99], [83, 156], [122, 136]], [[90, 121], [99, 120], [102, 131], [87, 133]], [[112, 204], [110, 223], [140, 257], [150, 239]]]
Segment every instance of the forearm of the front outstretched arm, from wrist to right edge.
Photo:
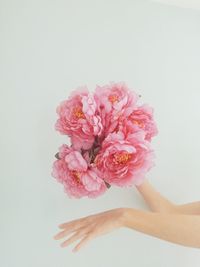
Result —
[[124, 208], [124, 226], [182, 246], [200, 248], [200, 216]]

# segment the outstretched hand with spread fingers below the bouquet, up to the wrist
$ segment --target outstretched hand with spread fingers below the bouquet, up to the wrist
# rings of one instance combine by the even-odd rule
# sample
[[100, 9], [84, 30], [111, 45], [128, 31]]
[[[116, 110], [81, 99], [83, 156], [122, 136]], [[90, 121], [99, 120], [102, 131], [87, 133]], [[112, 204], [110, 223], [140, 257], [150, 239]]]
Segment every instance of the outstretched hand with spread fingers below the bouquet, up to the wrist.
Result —
[[61, 247], [66, 247], [74, 241], [81, 239], [72, 250], [76, 252], [91, 239], [124, 226], [124, 211], [125, 208], [117, 208], [63, 223], [59, 225], [59, 228], [63, 229], [63, 231], [55, 235], [54, 239], [61, 239], [74, 233], [61, 243]]

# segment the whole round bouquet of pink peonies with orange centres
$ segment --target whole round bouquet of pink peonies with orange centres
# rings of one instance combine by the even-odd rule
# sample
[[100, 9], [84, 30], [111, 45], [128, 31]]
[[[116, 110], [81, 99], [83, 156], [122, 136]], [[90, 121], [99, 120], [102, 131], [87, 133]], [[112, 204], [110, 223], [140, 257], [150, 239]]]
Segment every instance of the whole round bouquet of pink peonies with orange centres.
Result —
[[124, 82], [79, 87], [56, 108], [55, 129], [70, 137], [56, 153], [51, 175], [70, 198], [96, 198], [111, 186], [139, 185], [155, 165], [150, 147], [158, 129], [153, 108]]

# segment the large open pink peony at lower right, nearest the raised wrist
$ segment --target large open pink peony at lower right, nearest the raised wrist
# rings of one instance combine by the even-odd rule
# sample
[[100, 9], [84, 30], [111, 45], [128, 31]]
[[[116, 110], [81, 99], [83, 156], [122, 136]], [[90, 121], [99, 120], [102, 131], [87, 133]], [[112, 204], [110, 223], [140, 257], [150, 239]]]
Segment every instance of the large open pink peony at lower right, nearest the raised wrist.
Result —
[[109, 184], [132, 186], [140, 184], [147, 171], [155, 164], [150, 143], [144, 139], [144, 131], [110, 133], [95, 159], [99, 175]]

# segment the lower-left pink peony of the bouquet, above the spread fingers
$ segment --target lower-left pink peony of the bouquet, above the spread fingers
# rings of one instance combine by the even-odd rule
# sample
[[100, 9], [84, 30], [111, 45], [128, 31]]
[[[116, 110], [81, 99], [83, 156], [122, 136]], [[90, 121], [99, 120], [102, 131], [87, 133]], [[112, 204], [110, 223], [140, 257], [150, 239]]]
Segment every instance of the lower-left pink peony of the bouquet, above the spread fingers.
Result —
[[102, 195], [107, 187], [98, 176], [96, 169], [89, 167], [79, 151], [62, 145], [59, 148], [60, 159], [53, 163], [52, 176], [64, 185], [64, 191], [70, 198]]

